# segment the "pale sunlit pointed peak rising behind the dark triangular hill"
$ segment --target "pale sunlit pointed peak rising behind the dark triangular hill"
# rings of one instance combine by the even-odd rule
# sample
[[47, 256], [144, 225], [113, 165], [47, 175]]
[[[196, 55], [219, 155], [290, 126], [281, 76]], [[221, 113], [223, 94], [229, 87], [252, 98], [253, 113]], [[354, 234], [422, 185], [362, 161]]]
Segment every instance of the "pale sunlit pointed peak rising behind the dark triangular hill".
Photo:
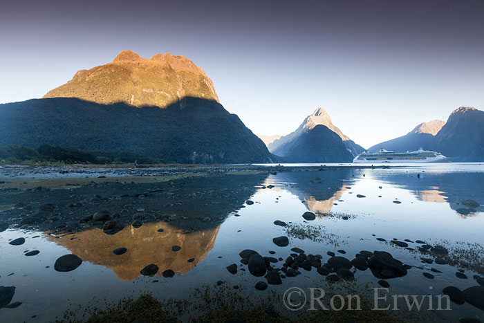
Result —
[[274, 140], [274, 142], [268, 145], [269, 151], [277, 156], [287, 156], [293, 142], [295, 142], [295, 140], [297, 140], [297, 138], [303, 133], [313, 130], [318, 125], [323, 125], [336, 133], [353, 157], [364, 151], [363, 147], [353, 142], [353, 140], [344, 135], [344, 133], [333, 124], [329, 114], [321, 107], [318, 107], [312, 114], [310, 114], [310, 116], [307, 116], [295, 131], [287, 136], [282, 136], [278, 140]]

